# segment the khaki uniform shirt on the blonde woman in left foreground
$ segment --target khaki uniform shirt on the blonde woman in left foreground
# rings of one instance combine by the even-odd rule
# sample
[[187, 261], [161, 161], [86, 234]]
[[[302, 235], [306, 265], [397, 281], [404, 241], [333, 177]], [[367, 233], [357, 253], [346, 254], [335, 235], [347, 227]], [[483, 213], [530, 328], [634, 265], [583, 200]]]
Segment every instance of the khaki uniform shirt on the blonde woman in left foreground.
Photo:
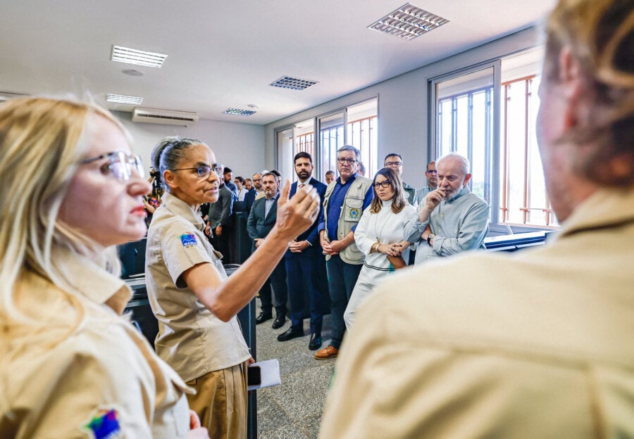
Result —
[[68, 266], [84, 295], [32, 272], [15, 290], [45, 326], [0, 331], [0, 438], [185, 438], [189, 390], [120, 317], [129, 288], [92, 262]]

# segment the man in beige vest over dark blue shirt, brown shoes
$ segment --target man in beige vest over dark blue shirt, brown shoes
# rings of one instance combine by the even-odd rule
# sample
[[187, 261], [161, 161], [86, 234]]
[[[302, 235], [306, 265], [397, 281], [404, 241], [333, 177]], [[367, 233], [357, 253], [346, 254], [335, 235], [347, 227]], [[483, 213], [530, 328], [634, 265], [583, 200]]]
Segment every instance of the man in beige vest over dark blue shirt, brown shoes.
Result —
[[319, 218], [319, 241], [326, 255], [330, 289], [332, 338], [317, 360], [337, 357], [346, 330], [343, 314], [363, 265], [363, 253], [354, 243], [354, 229], [373, 197], [372, 180], [358, 174], [361, 153], [354, 146], [337, 151], [339, 178], [326, 189]]

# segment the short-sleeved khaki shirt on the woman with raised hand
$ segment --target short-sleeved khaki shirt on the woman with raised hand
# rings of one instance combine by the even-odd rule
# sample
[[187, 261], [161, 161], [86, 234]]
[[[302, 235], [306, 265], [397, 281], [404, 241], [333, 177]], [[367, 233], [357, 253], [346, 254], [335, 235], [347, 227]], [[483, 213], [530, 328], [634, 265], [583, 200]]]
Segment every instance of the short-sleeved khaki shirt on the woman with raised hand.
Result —
[[213, 265], [225, 279], [218, 254], [203, 233], [204, 222], [187, 203], [164, 193], [147, 234], [146, 284], [159, 320], [154, 346], [185, 380], [240, 364], [251, 357], [237, 318], [223, 322], [187, 288], [183, 272]]

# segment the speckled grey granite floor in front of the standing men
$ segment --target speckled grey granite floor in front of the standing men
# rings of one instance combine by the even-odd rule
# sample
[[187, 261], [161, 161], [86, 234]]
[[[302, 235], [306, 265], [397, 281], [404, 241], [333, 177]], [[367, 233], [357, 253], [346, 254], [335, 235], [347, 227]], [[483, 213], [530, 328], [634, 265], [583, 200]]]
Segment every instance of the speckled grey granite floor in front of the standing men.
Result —
[[[304, 337], [285, 342], [277, 338], [290, 327], [290, 320], [280, 329], [271, 328], [271, 324], [273, 320], [256, 326], [257, 360], [277, 358], [282, 384], [257, 390], [258, 438], [317, 438], [335, 359], [313, 358], [315, 351], [308, 348], [309, 319], [304, 320]], [[322, 340], [323, 347], [328, 345], [330, 316], [324, 317]]]

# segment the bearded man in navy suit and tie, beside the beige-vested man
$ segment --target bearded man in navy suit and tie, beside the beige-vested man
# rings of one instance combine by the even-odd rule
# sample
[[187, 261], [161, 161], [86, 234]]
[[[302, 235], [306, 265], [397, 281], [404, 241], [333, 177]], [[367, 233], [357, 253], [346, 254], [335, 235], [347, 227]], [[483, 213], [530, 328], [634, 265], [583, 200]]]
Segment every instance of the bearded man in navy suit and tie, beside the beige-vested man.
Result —
[[[326, 185], [311, 177], [313, 174], [313, 158], [309, 153], [300, 152], [294, 157], [295, 173], [299, 179], [292, 184], [290, 193], [294, 195], [305, 184], [317, 189], [321, 201]], [[290, 243], [284, 259], [288, 276], [290, 293], [291, 326], [278, 336], [278, 341], [287, 341], [304, 336], [304, 292], [308, 292], [311, 307], [311, 341], [310, 350], [321, 347], [321, 325], [323, 314], [328, 311], [328, 284], [325, 270], [325, 259], [319, 245], [319, 234], [315, 222], [303, 234]]]

